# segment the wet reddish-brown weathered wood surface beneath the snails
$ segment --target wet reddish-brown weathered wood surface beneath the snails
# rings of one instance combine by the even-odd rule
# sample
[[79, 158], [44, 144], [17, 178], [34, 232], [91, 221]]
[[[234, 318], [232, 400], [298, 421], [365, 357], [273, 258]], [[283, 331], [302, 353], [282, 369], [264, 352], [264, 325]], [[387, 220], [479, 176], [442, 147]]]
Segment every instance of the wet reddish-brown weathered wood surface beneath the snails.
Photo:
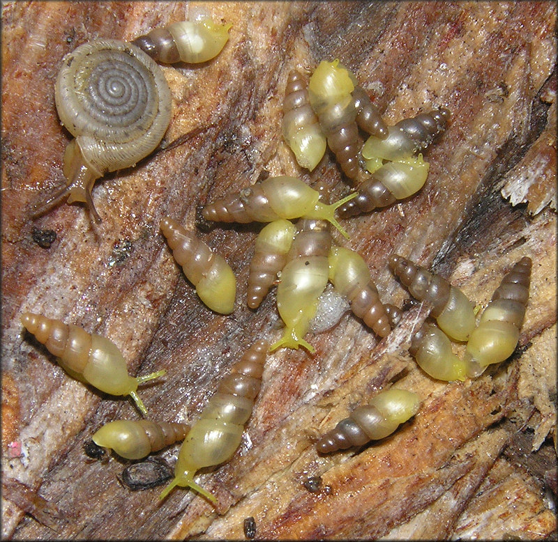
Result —
[[[555, 532], [542, 474], [501, 455], [524, 424], [534, 449], [543, 443], [548, 451], [545, 437], [556, 431], [555, 3], [204, 8], [232, 23], [230, 40], [206, 65], [163, 68], [173, 98], [163, 140], [170, 148], [97, 183], [93, 199], [103, 222], [96, 225], [82, 206], [29, 219], [32, 204], [64, 182], [70, 138], [53, 91], [61, 58], [91, 38], [130, 40], [182, 20], [188, 3], [3, 4], [3, 536], [243, 539], [248, 516], [262, 539]], [[163, 503], [158, 488], [130, 492], [116, 478], [126, 463], [92, 463], [82, 444], [105, 421], [137, 419], [133, 404], [70, 379], [22, 332], [20, 313], [105, 334], [130, 373], [166, 368], [163, 382], [141, 392], [151, 417], [195, 419], [250, 343], [278, 338], [275, 298], [271, 293], [256, 311], [246, 307], [259, 226], [200, 233], [238, 275], [236, 311], [218, 316], [186, 283], [158, 224], [170, 215], [195, 226], [197, 206], [266, 173], [320, 180], [334, 187], [333, 196], [345, 194], [331, 154], [314, 172], [301, 171], [280, 136], [289, 70], [310, 72], [333, 58], [356, 73], [389, 123], [433, 107], [453, 114], [425, 155], [430, 175], [421, 192], [345, 220], [351, 239], [338, 242], [365, 257], [382, 299], [396, 304], [408, 296], [386, 267], [391, 251], [432, 266], [480, 304], [513, 262], [531, 256], [518, 353], [478, 380], [437, 382], [406, 350], [424, 307], [410, 309], [381, 342], [347, 314], [330, 332], [310, 336], [315, 356], [269, 356], [241, 449], [199, 477], [216, 493], [218, 511], [188, 490], [174, 490]], [[33, 227], [56, 232], [50, 248], [33, 241]], [[318, 456], [317, 435], [397, 379], [423, 398], [414, 421], [365, 449]], [[172, 463], [177, 449], [161, 455]], [[524, 451], [526, 461], [536, 456]], [[311, 476], [322, 476], [317, 493], [303, 486]]]

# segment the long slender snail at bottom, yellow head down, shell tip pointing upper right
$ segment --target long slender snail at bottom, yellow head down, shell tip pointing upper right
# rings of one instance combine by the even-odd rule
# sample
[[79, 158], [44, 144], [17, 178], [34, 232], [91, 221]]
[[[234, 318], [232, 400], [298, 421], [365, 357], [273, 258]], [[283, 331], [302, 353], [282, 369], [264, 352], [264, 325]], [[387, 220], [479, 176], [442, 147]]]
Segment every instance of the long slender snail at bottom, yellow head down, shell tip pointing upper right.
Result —
[[194, 481], [202, 467], [229, 460], [241, 442], [246, 423], [259, 392], [266, 358], [266, 341], [254, 343], [219, 384], [199, 419], [182, 443], [174, 467], [174, 479], [160, 494], [164, 499], [175, 486], [190, 487], [216, 503], [216, 498]]

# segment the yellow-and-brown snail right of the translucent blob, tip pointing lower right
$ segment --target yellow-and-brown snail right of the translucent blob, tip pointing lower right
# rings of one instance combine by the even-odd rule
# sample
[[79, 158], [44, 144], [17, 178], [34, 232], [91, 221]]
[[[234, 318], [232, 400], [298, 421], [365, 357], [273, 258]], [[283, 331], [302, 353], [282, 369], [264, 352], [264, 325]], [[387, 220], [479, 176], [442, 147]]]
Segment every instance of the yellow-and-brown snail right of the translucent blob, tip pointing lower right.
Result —
[[351, 249], [333, 246], [329, 253], [329, 280], [336, 291], [349, 300], [355, 316], [375, 334], [384, 337], [391, 327], [384, 305], [379, 300], [370, 270], [362, 256]]

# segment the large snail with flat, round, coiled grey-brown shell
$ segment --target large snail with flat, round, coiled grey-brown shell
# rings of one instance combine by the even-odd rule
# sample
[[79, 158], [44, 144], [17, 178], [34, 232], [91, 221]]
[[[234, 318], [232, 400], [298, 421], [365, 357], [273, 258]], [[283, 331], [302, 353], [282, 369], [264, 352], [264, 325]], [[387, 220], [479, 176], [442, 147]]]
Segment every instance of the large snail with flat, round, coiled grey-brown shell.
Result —
[[64, 56], [54, 99], [61, 123], [75, 137], [63, 157], [68, 185], [38, 206], [33, 217], [83, 201], [96, 222], [95, 181], [151, 154], [170, 121], [163, 71], [141, 49], [118, 40], [93, 40]]

